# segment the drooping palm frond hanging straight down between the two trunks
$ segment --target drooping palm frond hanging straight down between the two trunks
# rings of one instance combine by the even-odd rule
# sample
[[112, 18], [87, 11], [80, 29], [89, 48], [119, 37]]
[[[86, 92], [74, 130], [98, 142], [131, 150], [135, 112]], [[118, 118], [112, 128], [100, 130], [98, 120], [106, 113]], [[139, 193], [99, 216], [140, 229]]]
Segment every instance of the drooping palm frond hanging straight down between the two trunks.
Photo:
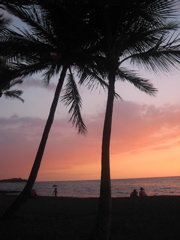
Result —
[[70, 106], [70, 121], [72, 122], [73, 126], [78, 129], [78, 133], [86, 134], [87, 128], [83, 122], [80, 111], [80, 108], [82, 107], [82, 101], [71, 71], [68, 75], [67, 84], [65, 86], [65, 94], [61, 101], [65, 104], [65, 106]]

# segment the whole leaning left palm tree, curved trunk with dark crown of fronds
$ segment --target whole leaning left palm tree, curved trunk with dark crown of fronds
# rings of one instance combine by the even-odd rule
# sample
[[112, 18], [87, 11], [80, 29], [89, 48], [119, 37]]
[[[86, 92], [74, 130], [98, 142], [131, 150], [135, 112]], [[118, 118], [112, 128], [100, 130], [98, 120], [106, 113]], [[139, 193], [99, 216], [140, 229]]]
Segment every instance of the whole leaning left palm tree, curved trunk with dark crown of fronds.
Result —
[[[18, 71], [21, 77], [44, 71], [45, 80], [49, 82], [54, 74], [61, 73], [26, 186], [1, 217], [1, 220], [13, 218], [19, 207], [29, 197], [40, 168], [48, 134], [53, 123], [60, 92], [68, 69], [69, 79], [63, 101], [70, 106], [71, 121], [78, 128], [79, 133], [85, 134], [86, 126], [80, 114], [81, 98], [78, 94], [71, 69], [79, 66], [79, 74], [82, 72], [83, 80], [90, 73], [91, 80], [93, 80], [93, 75], [98, 77], [96, 74], [98, 62], [94, 58], [95, 64], [92, 64], [92, 58], [89, 54], [90, 44], [94, 36], [92, 35], [89, 38], [90, 35], [88, 37], [87, 35], [82, 35], [82, 30], [85, 30], [86, 23], [82, 21], [84, 12], [79, 11], [79, 9], [82, 9], [81, 5], [75, 3], [72, 6], [71, 1], [65, 1], [65, 4], [59, 7], [57, 5], [48, 5], [47, 8], [45, 6], [40, 8], [36, 5], [36, 7], [25, 8], [10, 4], [7, 4], [7, 6], [11, 13], [28, 24], [30, 31], [21, 29], [18, 29], [18, 32], [11, 29], [2, 31], [0, 34], [1, 55], [7, 61], [18, 63]], [[72, 14], [72, 11], [74, 12], [76, 8], [78, 11], [75, 16]], [[64, 21], [66, 21], [66, 26], [64, 26]], [[59, 24], [59, 22], [62, 24]], [[83, 72], [83, 68], [86, 68], [86, 73]], [[87, 74], [88, 71], [89, 73]], [[99, 78], [99, 80], [101, 79]]]

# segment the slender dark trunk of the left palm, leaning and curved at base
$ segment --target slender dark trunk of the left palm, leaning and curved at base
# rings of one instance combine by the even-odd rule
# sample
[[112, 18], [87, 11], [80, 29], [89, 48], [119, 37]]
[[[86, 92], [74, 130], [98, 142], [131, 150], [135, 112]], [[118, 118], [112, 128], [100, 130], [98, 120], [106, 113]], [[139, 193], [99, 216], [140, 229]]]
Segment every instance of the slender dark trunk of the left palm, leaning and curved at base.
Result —
[[18, 211], [18, 209], [25, 203], [25, 201], [29, 198], [30, 196], [30, 192], [32, 190], [32, 187], [35, 183], [40, 165], [41, 165], [41, 161], [42, 161], [42, 157], [44, 154], [44, 150], [46, 147], [46, 142], [48, 139], [48, 135], [51, 129], [51, 126], [53, 124], [53, 120], [54, 120], [54, 115], [55, 115], [55, 111], [57, 108], [57, 104], [58, 104], [58, 100], [59, 100], [59, 96], [60, 96], [60, 92], [63, 86], [63, 82], [66, 76], [66, 71], [67, 71], [67, 67], [64, 67], [62, 69], [61, 72], [61, 76], [60, 79], [58, 81], [57, 87], [56, 87], [56, 91], [54, 94], [54, 99], [50, 108], [50, 112], [49, 112], [49, 116], [44, 128], [44, 132], [41, 138], [41, 142], [39, 144], [39, 148], [36, 154], [36, 158], [34, 160], [34, 164], [33, 167], [31, 169], [31, 173], [29, 175], [29, 178], [27, 180], [27, 183], [24, 187], [24, 189], [22, 190], [22, 192], [20, 193], [20, 195], [16, 198], [16, 200], [12, 203], [12, 205], [10, 205], [10, 207], [6, 210], [6, 212], [2, 215], [2, 217], [0, 218], [0, 220], [10, 220], [15, 218], [16, 213]]

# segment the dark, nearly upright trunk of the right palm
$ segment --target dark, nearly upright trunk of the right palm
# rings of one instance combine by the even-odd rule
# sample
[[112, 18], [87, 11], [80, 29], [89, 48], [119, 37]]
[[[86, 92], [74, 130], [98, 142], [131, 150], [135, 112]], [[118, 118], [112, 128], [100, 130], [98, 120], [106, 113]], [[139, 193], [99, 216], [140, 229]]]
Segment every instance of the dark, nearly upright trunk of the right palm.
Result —
[[101, 155], [101, 185], [97, 219], [89, 240], [109, 240], [111, 229], [110, 139], [114, 103], [115, 75], [109, 75]]

